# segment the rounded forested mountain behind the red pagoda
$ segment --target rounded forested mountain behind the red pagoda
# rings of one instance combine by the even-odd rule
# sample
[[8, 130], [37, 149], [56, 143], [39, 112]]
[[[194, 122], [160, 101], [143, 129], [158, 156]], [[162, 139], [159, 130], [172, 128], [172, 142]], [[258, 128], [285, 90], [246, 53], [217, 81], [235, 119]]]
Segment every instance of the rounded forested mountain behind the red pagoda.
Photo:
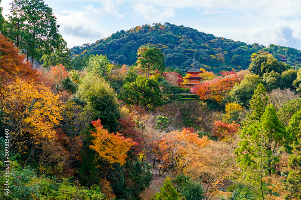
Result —
[[215, 73], [220, 70], [247, 69], [250, 56], [259, 50], [268, 51], [279, 61], [296, 68], [299, 68], [301, 61], [301, 52], [294, 48], [272, 44], [266, 48], [258, 43], [250, 45], [167, 22], [164, 25], [154, 23], [152, 26], [142, 25], [128, 31], [117, 31], [93, 44], [75, 46], [70, 51], [72, 57], [76, 54], [103, 54], [115, 64], [132, 65], [137, 61], [139, 46], [148, 43], [157, 46], [165, 55], [166, 67], [179, 68], [183, 72], [191, 67], [194, 53], [197, 67]]

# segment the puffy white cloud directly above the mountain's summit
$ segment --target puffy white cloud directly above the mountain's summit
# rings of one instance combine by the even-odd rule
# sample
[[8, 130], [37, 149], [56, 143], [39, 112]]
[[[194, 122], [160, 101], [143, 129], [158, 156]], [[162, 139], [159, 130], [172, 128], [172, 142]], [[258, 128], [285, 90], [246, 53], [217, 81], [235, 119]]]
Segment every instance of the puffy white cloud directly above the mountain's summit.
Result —
[[164, 18], [174, 17], [174, 9], [165, 6], [163, 8], [155, 8], [153, 5], [137, 4], [133, 6], [134, 18], [142, 18], [147, 22], [160, 22]]

